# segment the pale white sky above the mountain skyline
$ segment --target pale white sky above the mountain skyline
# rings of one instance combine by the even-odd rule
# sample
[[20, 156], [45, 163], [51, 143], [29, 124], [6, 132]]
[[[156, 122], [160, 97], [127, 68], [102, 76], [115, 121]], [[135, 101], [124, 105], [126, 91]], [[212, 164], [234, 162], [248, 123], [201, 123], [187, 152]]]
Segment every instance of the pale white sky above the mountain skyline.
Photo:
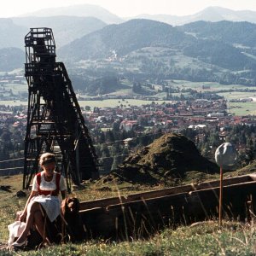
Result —
[[193, 15], [209, 6], [256, 11], [256, 0], [2, 0], [0, 17], [24, 15], [38, 9], [95, 4], [119, 17], [148, 15]]

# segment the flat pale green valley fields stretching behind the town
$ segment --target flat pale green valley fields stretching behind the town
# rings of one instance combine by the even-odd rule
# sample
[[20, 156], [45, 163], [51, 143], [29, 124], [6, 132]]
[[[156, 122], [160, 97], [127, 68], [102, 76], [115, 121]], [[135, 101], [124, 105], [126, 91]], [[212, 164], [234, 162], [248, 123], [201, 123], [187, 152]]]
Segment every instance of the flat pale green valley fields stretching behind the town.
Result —
[[[230, 84], [230, 85], [223, 85], [223, 84], [218, 84], [218, 83], [213, 83], [213, 82], [190, 82], [190, 81], [183, 81], [183, 80], [167, 80], [169, 86], [172, 87], [177, 87], [179, 89], [193, 89], [201, 92], [206, 92], [210, 91], [212, 93], [218, 93], [219, 96], [224, 96], [225, 99], [228, 101], [228, 112], [235, 114], [235, 115], [248, 115], [248, 114], [255, 114], [256, 113], [256, 100], [255, 102], [230, 102], [230, 100], [238, 100], [242, 98], [248, 98], [252, 97], [253, 99], [256, 99], [256, 92], [250, 92], [247, 90], [256, 90], [256, 87], [246, 87], [243, 85], [239, 84]], [[12, 90], [14, 94], [17, 94], [18, 92], [26, 92], [27, 87], [25, 84], [9, 84], [6, 85], [7, 90]], [[154, 84], [155, 88], [157, 87], [157, 84]], [[160, 89], [160, 88], [158, 88]], [[223, 92], [222, 92], [223, 90]], [[236, 91], [229, 91], [226, 92], [224, 90], [236, 90]], [[107, 99], [107, 100], [102, 100], [102, 101], [83, 101], [79, 100], [79, 105], [80, 107], [85, 107], [85, 106], [90, 106], [90, 108], [115, 108], [117, 106], [125, 106], [125, 107], [130, 107], [130, 106], [141, 106], [143, 104], [149, 104], [153, 102], [152, 100], [139, 100], [139, 99], [125, 99], [122, 100], [122, 96], [125, 95], [131, 95], [130, 90], [120, 90], [116, 93], [114, 93], [116, 96], [120, 97], [118, 99]], [[185, 94], [185, 93], [183, 93]], [[173, 96], [177, 95], [179, 96], [180, 93], [173, 93]], [[163, 96], [166, 96], [165, 93], [159, 93], [158, 95], [160, 98]], [[168, 101], [154, 101], [158, 104], [161, 104], [162, 102], [168, 102]], [[1, 101], [1, 105], [6, 105], [6, 106], [26, 106], [27, 101]]]

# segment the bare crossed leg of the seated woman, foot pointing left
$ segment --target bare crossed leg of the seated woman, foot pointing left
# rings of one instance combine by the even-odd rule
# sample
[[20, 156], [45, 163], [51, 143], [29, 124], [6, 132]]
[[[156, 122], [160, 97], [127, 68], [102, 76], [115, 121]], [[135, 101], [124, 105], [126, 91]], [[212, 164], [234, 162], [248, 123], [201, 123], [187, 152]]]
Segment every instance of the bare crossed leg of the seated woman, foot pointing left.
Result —
[[[16, 242], [18, 242], [18, 243], [21, 243], [26, 240], [28, 232], [32, 228], [32, 225], [35, 222], [35, 217], [38, 217], [38, 213], [36, 213], [36, 212], [41, 212], [40, 204], [38, 202], [33, 202], [32, 206], [27, 211], [28, 212], [27, 212], [27, 216], [26, 216], [26, 227], [25, 227], [25, 230], [23, 230], [23, 232], [20, 234], [20, 237], [17, 239]], [[42, 218], [43, 218], [43, 216], [42, 216]]]

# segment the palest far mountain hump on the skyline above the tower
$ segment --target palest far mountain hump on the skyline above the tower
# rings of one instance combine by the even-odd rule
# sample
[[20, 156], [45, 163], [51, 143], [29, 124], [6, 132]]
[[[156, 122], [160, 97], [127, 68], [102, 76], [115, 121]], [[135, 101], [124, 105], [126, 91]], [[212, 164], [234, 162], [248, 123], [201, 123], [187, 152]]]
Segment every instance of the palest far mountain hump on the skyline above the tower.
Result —
[[78, 17], [95, 17], [107, 24], [120, 23], [124, 20], [120, 19], [117, 15], [113, 15], [107, 9], [94, 4], [77, 4], [66, 7], [40, 9], [23, 16], [78, 16]]

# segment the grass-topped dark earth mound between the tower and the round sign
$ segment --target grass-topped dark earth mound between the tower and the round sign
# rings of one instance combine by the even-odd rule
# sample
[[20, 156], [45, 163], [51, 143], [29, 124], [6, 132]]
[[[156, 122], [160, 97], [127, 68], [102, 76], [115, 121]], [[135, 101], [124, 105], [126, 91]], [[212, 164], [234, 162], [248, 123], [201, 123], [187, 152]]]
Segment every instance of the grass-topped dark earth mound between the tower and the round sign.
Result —
[[111, 177], [131, 183], [180, 183], [187, 172], [218, 172], [187, 137], [168, 133], [125, 159]]

